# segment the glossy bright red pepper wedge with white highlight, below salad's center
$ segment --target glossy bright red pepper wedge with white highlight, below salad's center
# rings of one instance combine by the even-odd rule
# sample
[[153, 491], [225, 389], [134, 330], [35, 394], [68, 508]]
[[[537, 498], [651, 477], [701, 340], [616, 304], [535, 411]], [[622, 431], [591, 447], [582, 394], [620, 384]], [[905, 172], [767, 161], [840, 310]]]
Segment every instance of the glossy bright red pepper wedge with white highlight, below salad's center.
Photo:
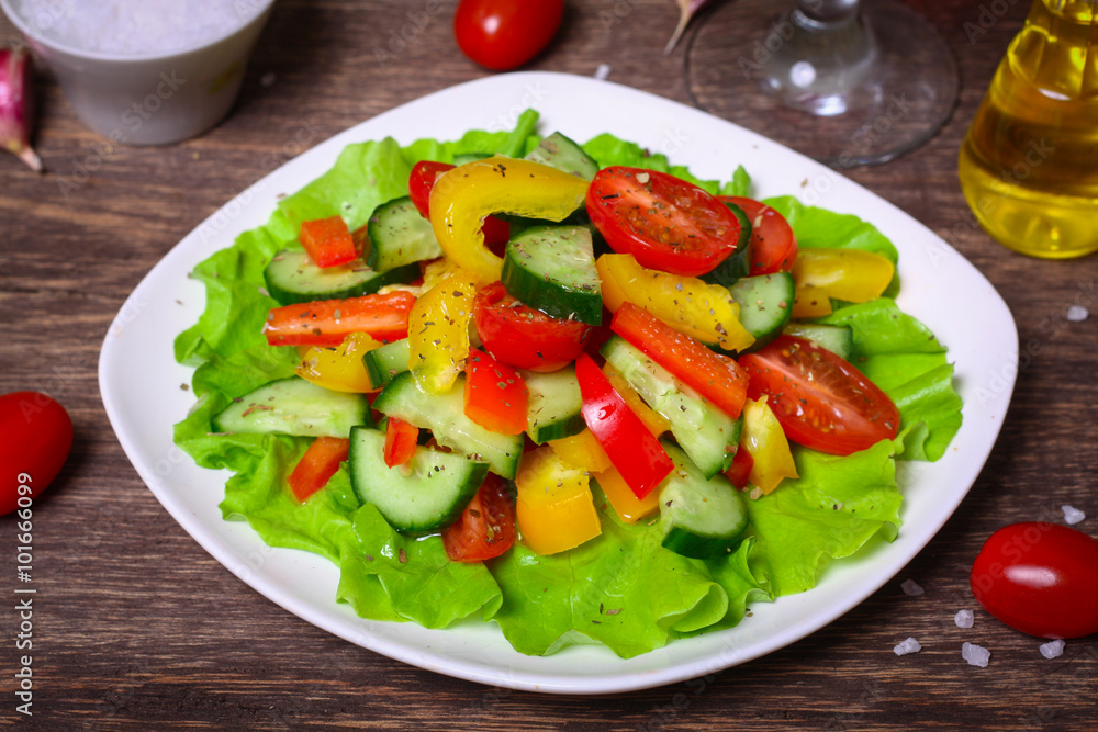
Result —
[[583, 420], [634, 494], [643, 499], [674, 463], [586, 353], [575, 361]]

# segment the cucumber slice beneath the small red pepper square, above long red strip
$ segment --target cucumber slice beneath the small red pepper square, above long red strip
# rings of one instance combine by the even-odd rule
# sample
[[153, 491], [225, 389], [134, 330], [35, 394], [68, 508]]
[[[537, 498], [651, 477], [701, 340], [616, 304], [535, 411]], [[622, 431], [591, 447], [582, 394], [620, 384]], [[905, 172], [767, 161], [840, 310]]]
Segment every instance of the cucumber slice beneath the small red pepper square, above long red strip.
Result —
[[283, 249], [264, 270], [267, 292], [280, 305], [369, 295], [386, 284], [411, 282], [417, 277], [416, 264], [388, 272], [376, 272], [360, 259], [343, 267], [317, 267], [300, 249]]

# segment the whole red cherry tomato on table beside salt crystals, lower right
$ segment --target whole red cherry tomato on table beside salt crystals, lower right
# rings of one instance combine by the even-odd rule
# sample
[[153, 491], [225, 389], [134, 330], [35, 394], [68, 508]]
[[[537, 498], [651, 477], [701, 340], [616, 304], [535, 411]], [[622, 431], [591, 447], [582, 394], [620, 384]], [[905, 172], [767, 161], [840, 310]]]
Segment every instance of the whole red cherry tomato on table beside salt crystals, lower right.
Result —
[[1098, 632], [1098, 541], [1058, 523], [1006, 526], [984, 543], [968, 578], [985, 610], [1039, 638]]

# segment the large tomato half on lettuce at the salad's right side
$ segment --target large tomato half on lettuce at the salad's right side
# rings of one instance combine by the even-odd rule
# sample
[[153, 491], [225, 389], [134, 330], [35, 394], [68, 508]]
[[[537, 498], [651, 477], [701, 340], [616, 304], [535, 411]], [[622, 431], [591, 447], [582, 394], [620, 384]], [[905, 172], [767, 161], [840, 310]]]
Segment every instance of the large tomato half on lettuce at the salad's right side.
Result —
[[849, 455], [896, 437], [899, 410], [861, 371], [831, 351], [778, 336], [740, 357], [749, 395], [765, 394], [786, 437], [806, 448]]

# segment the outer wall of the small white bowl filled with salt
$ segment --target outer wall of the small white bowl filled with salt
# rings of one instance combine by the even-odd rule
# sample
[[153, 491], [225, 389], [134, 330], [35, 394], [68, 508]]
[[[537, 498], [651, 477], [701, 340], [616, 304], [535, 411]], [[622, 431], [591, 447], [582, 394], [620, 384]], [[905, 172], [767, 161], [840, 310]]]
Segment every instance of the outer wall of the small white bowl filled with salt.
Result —
[[274, 4], [247, 1], [256, 14], [229, 33], [168, 54], [133, 56], [64, 46], [36, 32], [14, 0], [0, 0], [0, 8], [57, 77], [85, 125], [114, 143], [166, 145], [206, 132], [236, 101]]

